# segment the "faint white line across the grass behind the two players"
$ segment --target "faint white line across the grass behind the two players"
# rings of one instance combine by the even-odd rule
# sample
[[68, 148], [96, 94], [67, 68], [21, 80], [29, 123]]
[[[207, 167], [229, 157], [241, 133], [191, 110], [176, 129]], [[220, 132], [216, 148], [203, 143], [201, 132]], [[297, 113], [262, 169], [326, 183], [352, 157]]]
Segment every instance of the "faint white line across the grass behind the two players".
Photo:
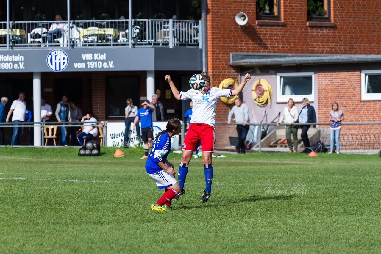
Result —
[[[112, 182], [112, 181], [90, 181], [90, 180], [79, 180], [79, 179], [35, 179], [35, 178], [23, 178], [23, 177], [0, 177], [0, 180], [22, 180], [22, 181], [55, 181], [55, 182], [75, 182], [75, 183], [101, 183], [101, 184], [152, 184], [152, 182]], [[187, 184], [194, 184], [194, 185], [204, 185], [204, 183], [196, 183], [191, 182]], [[296, 186], [296, 187], [323, 187], [323, 188], [337, 188], [337, 187], [363, 187], [363, 188], [381, 188], [381, 186], [377, 185], [349, 185], [349, 184], [343, 184], [343, 185], [307, 185], [307, 184], [225, 184], [225, 183], [214, 183], [215, 185], [230, 185], [230, 186], [240, 186], [240, 185], [250, 185], [250, 186]]]

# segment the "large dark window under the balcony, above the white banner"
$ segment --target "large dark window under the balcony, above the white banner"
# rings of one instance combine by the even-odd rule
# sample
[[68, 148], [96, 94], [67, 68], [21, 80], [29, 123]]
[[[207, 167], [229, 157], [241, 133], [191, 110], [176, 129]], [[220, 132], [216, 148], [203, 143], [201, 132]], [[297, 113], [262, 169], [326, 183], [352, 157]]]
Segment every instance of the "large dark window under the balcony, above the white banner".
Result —
[[107, 116], [125, 117], [126, 100], [131, 98], [138, 109], [140, 105], [139, 77], [107, 77]]

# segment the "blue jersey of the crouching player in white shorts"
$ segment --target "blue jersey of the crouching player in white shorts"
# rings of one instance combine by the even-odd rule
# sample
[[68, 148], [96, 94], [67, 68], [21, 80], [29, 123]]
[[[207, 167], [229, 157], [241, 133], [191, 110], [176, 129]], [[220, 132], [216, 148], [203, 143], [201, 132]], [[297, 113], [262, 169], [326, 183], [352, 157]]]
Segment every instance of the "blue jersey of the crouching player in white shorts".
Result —
[[171, 137], [168, 132], [160, 135], [155, 139], [154, 144], [152, 145], [151, 152], [148, 155], [146, 162], [146, 171], [148, 174], [154, 174], [162, 171], [157, 163], [160, 161], [165, 162], [166, 157], [171, 151]]

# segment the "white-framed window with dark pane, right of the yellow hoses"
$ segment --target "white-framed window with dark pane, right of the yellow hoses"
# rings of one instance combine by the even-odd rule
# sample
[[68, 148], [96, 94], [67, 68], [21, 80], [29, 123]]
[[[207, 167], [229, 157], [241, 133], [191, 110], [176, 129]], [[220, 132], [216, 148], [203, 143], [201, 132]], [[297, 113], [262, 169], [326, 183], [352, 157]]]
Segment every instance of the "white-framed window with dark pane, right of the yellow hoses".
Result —
[[287, 102], [292, 98], [301, 101], [308, 98], [314, 101], [314, 73], [278, 73], [277, 74], [277, 102]]

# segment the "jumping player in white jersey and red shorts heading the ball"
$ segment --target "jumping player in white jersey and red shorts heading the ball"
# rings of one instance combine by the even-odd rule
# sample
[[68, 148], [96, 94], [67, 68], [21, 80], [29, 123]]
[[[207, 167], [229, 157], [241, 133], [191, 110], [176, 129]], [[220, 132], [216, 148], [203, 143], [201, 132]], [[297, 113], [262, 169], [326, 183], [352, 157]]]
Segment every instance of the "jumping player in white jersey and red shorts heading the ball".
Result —
[[230, 97], [241, 93], [247, 81], [250, 80], [250, 74], [246, 74], [242, 82], [235, 89], [221, 89], [210, 87], [210, 77], [207, 72], [201, 73], [205, 79], [205, 86], [199, 90], [190, 89], [186, 92], [179, 92], [169, 75], [165, 76], [168, 81], [174, 97], [178, 100], [191, 99], [193, 101], [191, 125], [182, 145], [182, 157], [178, 172], [178, 181], [181, 190], [173, 198], [177, 200], [180, 195], [185, 193], [184, 182], [188, 173], [189, 161], [192, 154], [202, 143], [202, 160], [204, 163], [204, 175], [206, 188], [200, 201], [206, 202], [211, 195], [211, 185], [213, 180], [212, 153], [215, 143], [215, 118], [216, 104], [219, 97]]

